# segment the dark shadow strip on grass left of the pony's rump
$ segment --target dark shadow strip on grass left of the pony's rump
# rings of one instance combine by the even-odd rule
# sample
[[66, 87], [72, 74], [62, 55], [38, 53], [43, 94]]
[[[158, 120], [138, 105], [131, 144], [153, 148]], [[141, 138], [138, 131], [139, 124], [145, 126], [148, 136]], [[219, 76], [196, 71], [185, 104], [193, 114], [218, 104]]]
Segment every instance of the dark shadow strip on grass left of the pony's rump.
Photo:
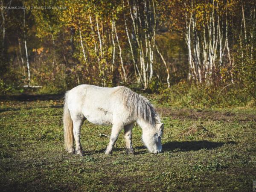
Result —
[[2, 95], [0, 96], [0, 101], [48, 101], [48, 100], [59, 100], [64, 98], [64, 93], [61, 94], [44, 94], [44, 95], [31, 95], [31, 94], [21, 94], [21, 95]]

